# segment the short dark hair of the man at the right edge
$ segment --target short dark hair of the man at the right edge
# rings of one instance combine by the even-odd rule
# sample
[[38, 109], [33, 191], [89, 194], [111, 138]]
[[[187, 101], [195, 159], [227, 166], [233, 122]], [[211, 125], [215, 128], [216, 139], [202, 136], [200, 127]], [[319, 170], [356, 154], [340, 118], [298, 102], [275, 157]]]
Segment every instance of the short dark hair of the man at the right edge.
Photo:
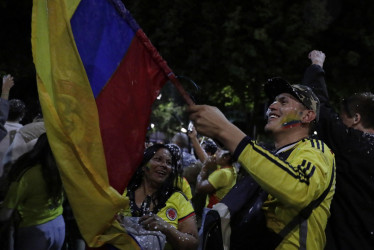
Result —
[[341, 112], [345, 113], [349, 118], [359, 113], [364, 128], [374, 128], [373, 110], [374, 94], [371, 92], [356, 93], [341, 102]]

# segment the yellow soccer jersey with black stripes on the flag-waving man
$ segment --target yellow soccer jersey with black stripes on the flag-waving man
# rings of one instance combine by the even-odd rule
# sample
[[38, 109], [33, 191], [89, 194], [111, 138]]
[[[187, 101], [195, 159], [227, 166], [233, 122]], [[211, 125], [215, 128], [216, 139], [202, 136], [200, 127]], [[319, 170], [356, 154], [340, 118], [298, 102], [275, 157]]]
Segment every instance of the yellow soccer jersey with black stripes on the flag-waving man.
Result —
[[[263, 209], [267, 226], [276, 233], [327, 189], [335, 165], [333, 153], [320, 140], [303, 139], [288, 147], [292, 152], [284, 161], [246, 137], [234, 153], [234, 157], [239, 156], [242, 166], [270, 194]], [[324, 230], [334, 192], [335, 180], [327, 197], [308, 220], [289, 233], [277, 249], [299, 249], [300, 245], [306, 249], [323, 249], [326, 243]]]

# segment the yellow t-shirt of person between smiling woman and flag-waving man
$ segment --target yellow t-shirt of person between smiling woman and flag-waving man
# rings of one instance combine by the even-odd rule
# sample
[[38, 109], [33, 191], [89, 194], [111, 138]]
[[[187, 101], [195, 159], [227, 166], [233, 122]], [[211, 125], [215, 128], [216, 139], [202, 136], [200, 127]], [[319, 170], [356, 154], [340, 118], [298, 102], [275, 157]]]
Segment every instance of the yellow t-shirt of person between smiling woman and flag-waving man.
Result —
[[206, 207], [212, 208], [213, 205], [220, 202], [236, 184], [236, 169], [233, 166], [218, 166], [218, 168], [209, 175], [208, 181], [216, 190], [207, 196]]

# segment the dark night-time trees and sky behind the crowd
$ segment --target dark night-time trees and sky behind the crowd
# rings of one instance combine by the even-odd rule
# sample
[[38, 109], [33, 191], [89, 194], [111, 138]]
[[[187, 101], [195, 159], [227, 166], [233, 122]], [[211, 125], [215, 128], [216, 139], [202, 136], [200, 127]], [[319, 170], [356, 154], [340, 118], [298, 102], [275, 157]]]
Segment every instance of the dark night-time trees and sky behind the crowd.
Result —
[[[248, 133], [261, 128], [262, 84], [273, 76], [298, 83], [313, 49], [327, 55], [324, 68], [335, 104], [354, 92], [373, 90], [374, 1], [123, 2], [173, 71], [201, 87], [194, 93], [196, 102], [218, 106]], [[39, 112], [31, 8], [31, 0], [0, 2], [0, 74], [15, 78], [10, 98], [27, 104], [24, 123]], [[183, 84], [191, 89], [189, 81]], [[171, 96], [183, 104], [177, 94]]]

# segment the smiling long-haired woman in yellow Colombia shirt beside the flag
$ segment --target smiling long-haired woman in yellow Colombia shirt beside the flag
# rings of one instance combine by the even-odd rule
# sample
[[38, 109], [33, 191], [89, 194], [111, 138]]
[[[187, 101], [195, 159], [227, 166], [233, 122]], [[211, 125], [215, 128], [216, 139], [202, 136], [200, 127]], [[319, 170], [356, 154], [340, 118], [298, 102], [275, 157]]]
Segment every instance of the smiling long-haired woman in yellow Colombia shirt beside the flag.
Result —
[[141, 217], [139, 222], [146, 230], [161, 231], [166, 236], [166, 248], [196, 249], [195, 213], [178, 188], [177, 161], [170, 145], [148, 147], [123, 194], [130, 199], [130, 207], [123, 214]]

